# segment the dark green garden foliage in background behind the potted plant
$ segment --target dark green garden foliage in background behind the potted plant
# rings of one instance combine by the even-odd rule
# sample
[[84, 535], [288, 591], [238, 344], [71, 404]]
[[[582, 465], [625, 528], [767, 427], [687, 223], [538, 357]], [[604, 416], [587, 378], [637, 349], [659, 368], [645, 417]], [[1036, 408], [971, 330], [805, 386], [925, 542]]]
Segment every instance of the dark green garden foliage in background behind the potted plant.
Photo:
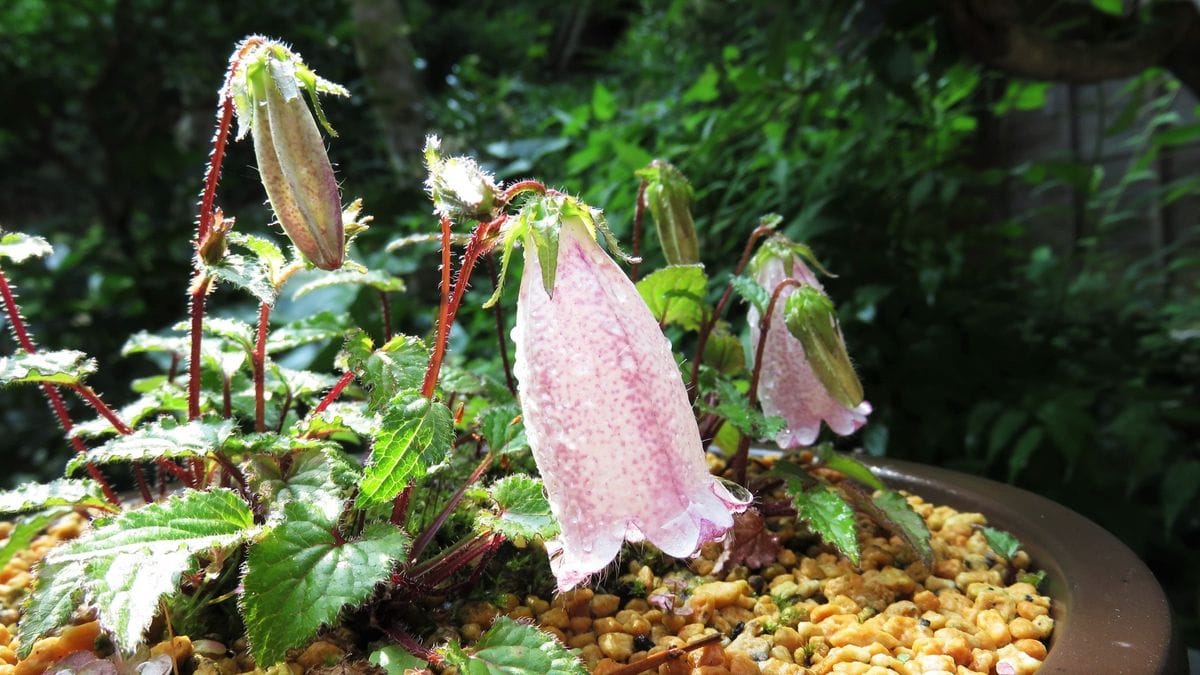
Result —
[[[1158, 257], [1114, 244], [1147, 227], [1150, 201], [1188, 193], [1129, 187], [1148, 185], [1163, 148], [1195, 141], [1195, 115], [1135, 118], [1132, 153], [1147, 161], [1116, 181], [1123, 190], [1061, 159], [1000, 167], [996, 115], [1044, 104], [1037, 86], [965, 60], [925, 13], [822, 5], [625, 2], [581, 17], [536, 0], [401, 4], [428, 127], [450, 151], [505, 180], [536, 175], [581, 195], [625, 241], [634, 169], [671, 160], [696, 187], [713, 274], [761, 215], [782, 214], [782, 229], [839, 275], [827, 289], [875, 406], [847, 444], [1014, 480], [1087, 514], [1153, 567], [1200, 644], [1195, 227]], [[432, 250], [383, 246], [434, 221], [421, 186], [390, 174], [378, 147], [346, 2], [14, 0], [0, 26], [0, 225], [58, 251], [6, 273], [40, 341], [96, 356], [92, 383], [112, 401], [150, 370], [119, 356], [125, 336], [185, 313], [215, 94], [250, 32], [290, 41], [354, 92], [325, 109], [341, 132], [330, 154], [344, 195], [377, 216], [356, 256], [412, 275], [395, 322], [427, 330]], [[1151, 94], [1132, 106], [1162, 112], [1178, 84], [1144, 78]], [[409, 161], [415, 171], [419, 157]], [[1064, 204], [1001, 213], [1014, 181], [1058, 190]], [[1051, 247], [1031, 222], [1057, 216], [1068, 228], [1070, 193], [1087, 234]], [[250, 144], [230, 145], [220, 204], [262, 233], [262, 201]], [[653, 238], [646, 255], [660, 262]], [[368, 295], [343, 309], [378, 325]], [[253, 311], [223, 295], [212, 304]], [[455, 347], [493, 354], [492, 317], [468, 304], [470, 338]], [[6, 330], [0, 353], [12, 348]], [[35, 389], [0, 392], [0, 426], [10, 482], [58, 473], [67, 446]]]

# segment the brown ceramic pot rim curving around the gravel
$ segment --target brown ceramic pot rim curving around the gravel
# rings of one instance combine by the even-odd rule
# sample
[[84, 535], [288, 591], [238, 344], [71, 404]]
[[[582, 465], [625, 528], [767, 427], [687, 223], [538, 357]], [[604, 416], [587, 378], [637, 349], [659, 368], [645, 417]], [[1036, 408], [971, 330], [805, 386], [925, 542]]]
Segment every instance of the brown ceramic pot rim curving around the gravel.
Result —
[[894, 459], [869, 458], [888, 485], [979, 512], [1021, 540], [1046, 573], [1055, 632], [1039, 674], [1187, 674], [1166, 596], [1116, 537], [1057, 503], [995, 480]]

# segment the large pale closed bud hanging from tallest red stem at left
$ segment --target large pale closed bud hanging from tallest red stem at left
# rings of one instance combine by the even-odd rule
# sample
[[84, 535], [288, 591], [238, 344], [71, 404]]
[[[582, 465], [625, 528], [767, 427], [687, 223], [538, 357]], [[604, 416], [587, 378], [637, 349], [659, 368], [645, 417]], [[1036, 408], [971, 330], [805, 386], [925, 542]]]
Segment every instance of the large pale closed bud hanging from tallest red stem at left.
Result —
[[250, 117], [258, 172], [275, 217], [308, 262], [320, 269], [342, 267], [346, 235], [337, 179], [301, 88], [314, 102], [318, 89], [344, 90], [320, 80], [299, 55], [271, 42], [247, 55], [239, 74], [239, 119]]

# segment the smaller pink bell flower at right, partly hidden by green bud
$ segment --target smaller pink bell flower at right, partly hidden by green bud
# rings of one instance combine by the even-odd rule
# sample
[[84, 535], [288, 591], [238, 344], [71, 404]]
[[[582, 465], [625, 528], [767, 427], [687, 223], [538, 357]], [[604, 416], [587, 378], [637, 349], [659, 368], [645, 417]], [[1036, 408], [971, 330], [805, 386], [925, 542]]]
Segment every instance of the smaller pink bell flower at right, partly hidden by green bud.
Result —
[[[768, 241], [756, 256], [751, 268], [755, 281], [767, 293], [773, 293], [785, 280], [796, 279], [824, 295], [824, 288], [816, 275], [793, 253], [790, 243], [784, 241], [786, 240], [781, 238]], [[775, 442], [785, 449], [811, 446], [817, 440], [822, 422], [829, 425], [834, 434], [848, 436], [866, 424], [866, 416], [871, 412], [871, 404], [860, 398], [856, 405], [839, 401], [814, 371], [804, 346], [788, 330], [784, 309], [787, 298], [797, 291], [796, 286], [785, 287], [775, 303], [767, 342], [762, 351], [758, 381], [762, 412], [781, 417], [787, 423], [787, 426], [775, 436]], [[748, 315], [751, 345], [758, 344], [760, 317], [758, 310], [751, 306]], [[840, 341], [841, 330], [836, 327], [833, 329], [836, 330], [836, 339]], [[848, 363], [845, 368], [850, 369]], [[848, 376], [854, 377], [852, 370]], [[857, 384], [857, 377], [854, 383]]]

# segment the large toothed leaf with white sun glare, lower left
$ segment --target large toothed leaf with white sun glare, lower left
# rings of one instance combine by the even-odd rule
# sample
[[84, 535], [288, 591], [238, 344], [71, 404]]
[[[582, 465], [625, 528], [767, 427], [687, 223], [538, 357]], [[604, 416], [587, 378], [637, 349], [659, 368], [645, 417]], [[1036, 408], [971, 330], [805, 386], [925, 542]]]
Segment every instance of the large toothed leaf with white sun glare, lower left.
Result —
[[234, 492], [188, 491], [127, 510], [46, 560], [86, 566], [83, 585], [100, 611], [101, 626], [121, 650], [132, 652], [158, 611], [158, 599], [178, 589], [193, 555], [234, 545], [253, 532], [254, 514]]

